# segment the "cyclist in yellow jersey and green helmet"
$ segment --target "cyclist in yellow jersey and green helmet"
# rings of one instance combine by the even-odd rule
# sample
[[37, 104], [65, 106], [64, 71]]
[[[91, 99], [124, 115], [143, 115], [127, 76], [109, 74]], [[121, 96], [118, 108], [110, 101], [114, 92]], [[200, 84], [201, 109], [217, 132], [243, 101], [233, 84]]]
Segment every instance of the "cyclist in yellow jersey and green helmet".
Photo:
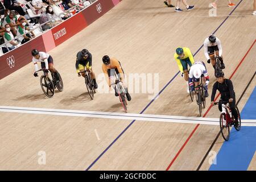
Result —
[[189, 48], [187, 47], [178, 47], [174, 54], [174, 59], [177, 62], [179, 70], [181, 72], [181, 77], [184, 77], [187, 84], [187, 92], [189, 93], [188, 86], [188, 65], [189, 67], [194, 64], [194, 58]]

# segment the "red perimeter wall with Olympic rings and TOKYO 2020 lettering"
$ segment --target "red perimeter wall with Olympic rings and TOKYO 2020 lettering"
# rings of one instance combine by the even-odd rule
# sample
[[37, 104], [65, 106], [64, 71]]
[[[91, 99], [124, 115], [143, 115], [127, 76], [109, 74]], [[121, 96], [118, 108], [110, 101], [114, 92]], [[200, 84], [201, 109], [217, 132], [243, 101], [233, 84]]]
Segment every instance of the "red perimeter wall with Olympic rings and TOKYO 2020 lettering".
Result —
[[[122, 0], [98, 0], [30, 42], [0, 57], [0, 80], [31, 62], [31, 49], [48, 52], [111, 10]], [[73, 28], [76, 27], [76, 28]]]

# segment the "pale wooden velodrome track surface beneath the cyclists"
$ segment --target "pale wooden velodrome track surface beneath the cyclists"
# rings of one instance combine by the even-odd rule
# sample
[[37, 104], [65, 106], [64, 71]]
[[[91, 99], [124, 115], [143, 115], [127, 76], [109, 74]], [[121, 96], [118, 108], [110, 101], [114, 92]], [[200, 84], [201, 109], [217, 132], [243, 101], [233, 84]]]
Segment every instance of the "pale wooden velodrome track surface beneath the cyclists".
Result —
[[[239, 6], [232, 15], [251, 14], [253, 1], [233, 2]], [[44, 96], [39, 77], [32, 75], [34, 65], [28, 64], [0, 80], [0, 105], [122, 113], [113, 94], [97, 93], [93, 101], [86, 94], [84, 80], [75, 71], [75, 59], [77, 51], [87, 48], [93, 55], [96, 75], [102, 73], [101, 57], [108, 54], [121, 61], [126, 73], [159, 73], [159, 91], [173, 78], [149, 106], [148, 94], [131, 93], [129, 113], [141, 113], [148, 106], [143, 114], [198, 116], [197, 105], [190, 101], [183, 78], [175, 77], [176, 47], [189, 47], [193, 53], [199, 50], [195, 59], [205, 61], [203, 49], [199, 48], [217, 30], [215, 34], [224, 49], [225, 75], [230, 77], [255, 42], [256, 17], [207, 17], [209, 1], [189, 1], [189, 4], [195, 4], [196, 8], [175, 13], [174, 9], [164, 7], [162, 0], [122, 1], [49, 52], [63, 77], [64, 92], [56, 92], [53, 98]], [[233, 9], [221, 2], [217, 13], [229, 15]], [[255, 52], [253, 46], [232, 77], [237, 100], [255, 72]], [[216, 79], [213, 68], [209, 64], [207, 68], [211, 93]], [[240, 110], [254, 86], [255, 79], [238, 105]], [[208, 107], [209, 98], [204, 113]], [[218, 115], [217, 107], [213, 107], [205, 117], [218, 118]], [[149, 121], [131, 124], [132, 120], [122, 119], [4, 112], [0, 121], [0, 169], [7, 170], [196, 170], [219, 131], [219, 126], [212, 125]], [[193, 130], [195, 133], [186, 142]], [[218, 151], [222, 142], [219, 137], [212, 150]], [[46, 152], [46, 165], [38, 164], [39, 151]], [[255, 165], [251, 164], [251, 169]], [[207, 158], [200, 170], [208, 169]]]

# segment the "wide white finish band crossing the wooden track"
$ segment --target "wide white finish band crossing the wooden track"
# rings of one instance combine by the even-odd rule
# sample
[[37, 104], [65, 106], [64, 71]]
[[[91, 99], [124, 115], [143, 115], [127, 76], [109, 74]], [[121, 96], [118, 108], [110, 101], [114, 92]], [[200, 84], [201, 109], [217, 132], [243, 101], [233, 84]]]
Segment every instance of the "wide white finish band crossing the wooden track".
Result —
[[[0, 111], [10, 112], [10, 113], [48, 114], [48, 115], [65, 115], [65, 116], [73, 116], [73, 117], [129, 119], [129, 120], [135, 119], [138, 121], [219, 125], [218, 118], [183, 117], [183, 116], [174, 116], [174, 115], [110, 113], [110, 112], [101, 112], [101, 111], [44, 109], [44, 108], [36, 108], [36, 107], [13, 107], [13, 106], [0, 106]], [[256, 126], [256, 119], [242, 119], [242, 126]]]

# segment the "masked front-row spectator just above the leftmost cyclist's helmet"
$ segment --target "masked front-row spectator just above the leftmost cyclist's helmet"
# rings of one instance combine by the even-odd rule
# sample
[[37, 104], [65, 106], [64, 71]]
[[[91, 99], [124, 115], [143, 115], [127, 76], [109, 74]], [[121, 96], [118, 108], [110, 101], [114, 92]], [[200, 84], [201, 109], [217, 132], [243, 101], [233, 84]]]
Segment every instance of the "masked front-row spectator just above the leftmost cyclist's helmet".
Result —
[[[21, 42], [21, 44], [24, 44], [24, 43], [30, 41], [32, 38], [35, 38], [35, 34], [33, 31], [27, 32], [27, 34], [25, 34], [26, 31], [30, 31], [30, 28], [26, 27], [26, 24], [27, 23], [25, 22], [24, 18], [21, 18], [19, 20], [17, 36], [24, 34], [23, 36], [18, 37], [18, 40], [19, 40], [19, 42]], [[32, 34], [32, 36], [31, 36], [31, 34]]]

